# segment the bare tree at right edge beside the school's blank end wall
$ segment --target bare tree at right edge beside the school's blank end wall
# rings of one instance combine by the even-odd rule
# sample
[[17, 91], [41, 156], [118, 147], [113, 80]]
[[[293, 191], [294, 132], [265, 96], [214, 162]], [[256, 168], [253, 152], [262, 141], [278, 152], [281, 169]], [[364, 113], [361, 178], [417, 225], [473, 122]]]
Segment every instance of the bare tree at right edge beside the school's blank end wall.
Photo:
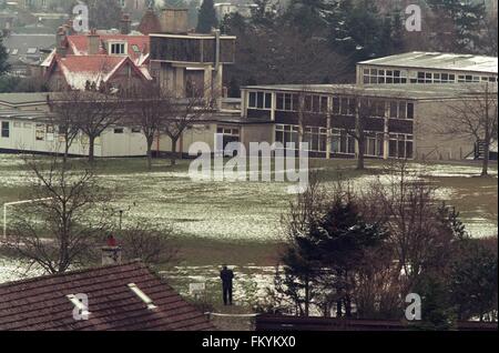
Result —
[[438, 132], [452, 138], [471, 138], [483, 149], [481, 175], [489, 173], [490, 147], [498, 137], [497, 83], [470, 84], [461, 101], [446, 104]]

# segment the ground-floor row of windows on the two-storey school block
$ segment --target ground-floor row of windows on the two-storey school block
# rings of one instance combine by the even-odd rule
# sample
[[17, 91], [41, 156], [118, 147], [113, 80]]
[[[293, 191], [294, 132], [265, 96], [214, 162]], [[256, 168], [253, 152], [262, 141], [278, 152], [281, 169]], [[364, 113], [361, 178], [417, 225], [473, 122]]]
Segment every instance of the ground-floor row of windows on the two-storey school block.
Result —
[[[278, 124], [275, 129], [275, 141], [284, 145], [298, 143], [298, 127]], [[327, 130], [325, 128], [306, 128], [304, 142], [308, 142], [310, 152], [327, 152]], [[333, 129], [330, 152], [334, 154], [355, 155], [355, 138], [344, 129]], [[414, 137], [411, 134], [389, 134], [388, 155], [390, 158], [411, 159]], [[385, 133], [366, 132], [364, 153], [366, 157], [383, 158], [385, 155]]]

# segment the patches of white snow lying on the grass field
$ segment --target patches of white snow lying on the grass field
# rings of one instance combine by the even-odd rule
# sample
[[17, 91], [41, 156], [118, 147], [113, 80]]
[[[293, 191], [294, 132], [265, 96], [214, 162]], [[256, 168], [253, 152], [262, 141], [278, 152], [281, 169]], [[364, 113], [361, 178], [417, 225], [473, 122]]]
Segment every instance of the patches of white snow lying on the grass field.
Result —
[[[22, 160], [18, 155], [0, 154], [0, 188], [27, 185], [21, 170]], [[478, 175], [478, 164], [420, 164], [411, 163], [413, 170], [429, 176]], [[497, 178], [497, 170], [492, 171]], [[186, 171], [155, 171], [152, 173], [115, 173], [102, 175], [102, 182], [110, 192], [115, 192], [115, 206], [128, 210], [123, 222], [133, 222], [136, 218], [149, 218], [160, 224], [173, 224], [184, 235], [201, 239], [257, 240], [262, 242], [278, 238], [278, 220], [295, 198], [287, 193], [288, 183], [279, 182], [193, 182]], [[364, 175], [352, 179], [355, 189], [373, 182], [377, 176]], [[381, 181], [386, 176], [381, 175]], [[118, 189], [116, 189], [118, 188]], [[476, 195], [495, 193], [497, 188], [485, 186], [476, 191]], [[458, 199], [459, 190], [442, 188], [438, 195], [444, 199]], [[467, 195], [462, 195], [466, 198]], [[496, 195], [497, 196], [497, 195]], [[2, 195], [0, 194], [0, 200]], [[480, 210], [466, 214], [466, 225], [473, 236], [497, 234], [497, 223]], [[464, 214], [465, 215], [465, 214]], [[482, 216], [483, 215], [483, 216]], [[19, 279], [11, 272], [16, 265], [3, 263], [0, 259], [0, 282]], [[179, 275], [182, 275], [182, 269]], [[201, 271], [201, 269], [197, 269]], [[197, 271], [196, 270], [196, 271]], [[217, 269], [206, 268], [197, 271], [198, 279], [217, 280]], [[256, 281], [268, 283], [272, 271], [251, 271], [242, 274]], [[10, 274], [8, 274], [10, 273]], [[256, 274], [255, 274], [256, 273]], [[269, 274], [268, 274], [269, 273]], [[173, 273], [172, 273], [173, 275]], [[262, 278], [259, 278], [262, 275]], [[212, 281], [210, 280], [210, 281]], [[244, 282], [244, 281], [243, 281]], [[216, 283], [216, 282], [213, 282]], [[237, 284], [238, 285], [238, 284]], [[266, 285], [265, 285], [266, 286]], [[189, 286], [187, 286], [189, 288]]]

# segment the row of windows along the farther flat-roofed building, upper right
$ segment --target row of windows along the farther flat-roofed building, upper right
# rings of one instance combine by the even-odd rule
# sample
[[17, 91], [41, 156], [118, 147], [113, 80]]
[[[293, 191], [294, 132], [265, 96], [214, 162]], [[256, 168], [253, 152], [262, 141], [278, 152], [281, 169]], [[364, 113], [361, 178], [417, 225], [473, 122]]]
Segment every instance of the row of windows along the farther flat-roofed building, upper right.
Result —
[[469, 82], [497, 82], [496, 77], [455, 74], [448, 72], [418, 71], [416, 78], [407, 78], [407, 72], [401, 70], [364, 69], [364, 83], [469, 83]]

